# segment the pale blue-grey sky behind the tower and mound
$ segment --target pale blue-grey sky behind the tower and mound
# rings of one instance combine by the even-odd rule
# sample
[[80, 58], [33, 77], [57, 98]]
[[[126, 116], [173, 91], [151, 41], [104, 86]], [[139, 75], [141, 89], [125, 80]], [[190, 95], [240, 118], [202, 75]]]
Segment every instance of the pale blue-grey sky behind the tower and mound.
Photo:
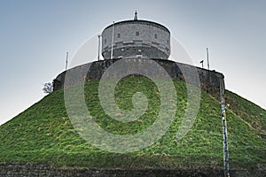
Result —
[[43, 84], [65, 69], [66, 51], [71, 59], [136, 10], [138, 19], [168, 27], [195, 65], [208, 47], [226, 89], [265, 109], [265, 9], [263, 0], [1, 0], [0, 125], [43, 98]]

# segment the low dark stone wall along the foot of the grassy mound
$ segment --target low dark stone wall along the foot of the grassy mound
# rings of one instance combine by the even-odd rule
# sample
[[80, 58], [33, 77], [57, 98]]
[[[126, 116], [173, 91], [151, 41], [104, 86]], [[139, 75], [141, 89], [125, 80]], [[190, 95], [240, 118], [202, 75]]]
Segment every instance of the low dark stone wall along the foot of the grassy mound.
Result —
[[[264, 177], [265, 170], [257, 169], [253, 172], [247, 170], [231, 170], [234, 177]], [[56, 167], [47, 163], [24, 162], [0, 163], [0, 177], [223, 177], [223, 169], [202, 168], [202, 169], [94, 169], [87, 167]]]

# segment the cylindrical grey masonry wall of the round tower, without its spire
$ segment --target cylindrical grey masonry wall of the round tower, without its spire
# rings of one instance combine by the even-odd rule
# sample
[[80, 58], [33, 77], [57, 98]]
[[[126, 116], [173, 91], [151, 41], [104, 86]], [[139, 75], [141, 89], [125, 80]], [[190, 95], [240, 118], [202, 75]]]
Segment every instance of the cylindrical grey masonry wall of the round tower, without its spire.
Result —
[[[106, 59], [110, 59], [112, 43], [114, 44], [113, 50], [130, 48], [130, 46], [137, 47], [139, 45], [153, 46], [158, 51], [165, 53], [164, 59], [168, 58], [171, 49], [168, 29], [155, 22], [145, 20], [121, 21], [115, 23], [114, 27], [113, 25], [106, 27], [102, 33], [102, 55]], [[145, 50], [147, 48], [142, 49], [142, 51]], [[135, 56], [135, 54], [136, 52], [123, 53], [123, 56], [129, 57]], [[113, 53], [114, 58], [119, 56], [121, 55]], [[149, 56], [149, 58], [153, 58], [153, 56]]]

